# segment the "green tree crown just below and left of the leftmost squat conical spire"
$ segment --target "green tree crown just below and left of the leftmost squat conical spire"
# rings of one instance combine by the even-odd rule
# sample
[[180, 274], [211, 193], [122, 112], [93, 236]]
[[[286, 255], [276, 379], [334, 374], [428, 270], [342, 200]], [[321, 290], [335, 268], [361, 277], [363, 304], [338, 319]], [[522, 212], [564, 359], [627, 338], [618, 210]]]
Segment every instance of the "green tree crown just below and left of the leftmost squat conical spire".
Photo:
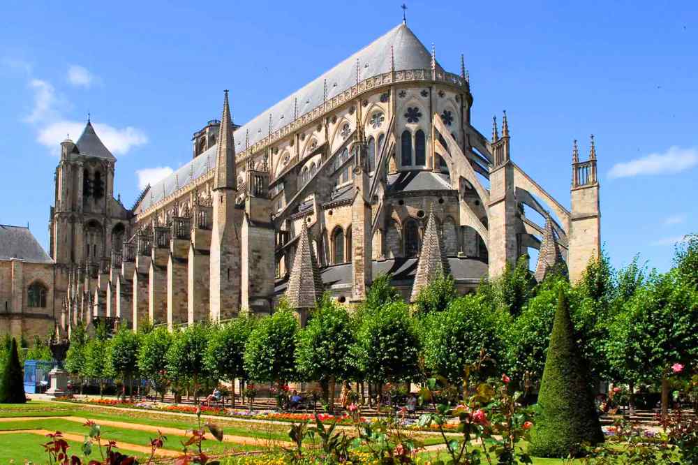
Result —
[[285, 381], [295, 375], [298, 321], [285, 305], [262, 318], [245, 345], [244, 367], [255, 381]]

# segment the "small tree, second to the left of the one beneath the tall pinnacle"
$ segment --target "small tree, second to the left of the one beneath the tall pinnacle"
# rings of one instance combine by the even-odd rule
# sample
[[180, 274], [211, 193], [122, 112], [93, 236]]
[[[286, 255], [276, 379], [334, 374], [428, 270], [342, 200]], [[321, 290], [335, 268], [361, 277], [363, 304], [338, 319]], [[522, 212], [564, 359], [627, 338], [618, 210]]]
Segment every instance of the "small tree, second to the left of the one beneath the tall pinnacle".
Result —
[[166, 327], [158, 327], [143, 335], [138, 350], [138, 369], [142, 376], [147, 376], [161, 400], [170, 383], [168, 371], [168, 350], [172, 346], [172, 333]]

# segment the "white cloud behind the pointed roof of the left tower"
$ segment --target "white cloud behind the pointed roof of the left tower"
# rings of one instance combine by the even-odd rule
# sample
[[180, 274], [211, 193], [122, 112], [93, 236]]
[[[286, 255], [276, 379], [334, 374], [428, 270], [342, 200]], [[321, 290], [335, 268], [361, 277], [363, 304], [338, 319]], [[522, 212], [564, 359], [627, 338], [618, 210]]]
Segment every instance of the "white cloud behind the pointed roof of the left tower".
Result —
[[[114, 155], [126, 154], [133, 147], [143, 145], [148, 142], [148, 138], [138, 128], [126, 126], [125, 128], [115, 128], [109, 124], [94, 124], [94, 131], [104, 142], [104, 145]], [[57, 149], [62, 140], [68, 135], [77, 141], [82, 134], [85, 124], [80, 121], [68, 121], [61, 119], [48, 124], [38, 132], [37, 140], [41, 145], [50, 149]]]

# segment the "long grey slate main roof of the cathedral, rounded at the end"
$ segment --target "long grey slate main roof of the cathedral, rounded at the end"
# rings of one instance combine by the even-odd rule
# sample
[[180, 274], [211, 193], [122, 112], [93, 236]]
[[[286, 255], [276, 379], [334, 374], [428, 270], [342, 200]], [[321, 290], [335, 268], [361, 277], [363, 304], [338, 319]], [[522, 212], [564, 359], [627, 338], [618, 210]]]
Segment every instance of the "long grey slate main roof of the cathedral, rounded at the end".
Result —
[[[242, 152], [245, 148], [244, 144], [247, 134], [249, 134], [249, 145], [253, 145], [269, 135], [269, 115], [272, 115], [273, 133], [292, 122], [294, 113], [296, 117], [301, 117], [320, 105], [325, 98], [325, 82], [327, 82], [328, 100], [350, 89], [352, 85], [356, 84], [357, 80], [357, 60], [359, 62], [359, 80], [388, 73], [390, 71], [391, 45], [393, 47], [395, 71], [431, 69], [431, 53], [429, 53], [429, 50], [426, 50], [424, 44], [419, 41], [413, 31], [411, 31], [406, 24], [401, 23], [369, 45], [366, 45], [362, 50], [359, 50], [344, 61], [341, 61], [341, 63], [334, 66], [334, 68], [315, 78], [315, 80], [309, 82], [309, 84], [306, 84], [279, 103], [276, 103], [276, 105], [267, 108], [267, 110], [261, 112], [260, 115], [237, 128], [234, 133], [235, 151]], [[443, 68], [438, 62], [436, 63], [436, 69], [437, 71], [443, 71]], [[235, 91], [233, 92], [232, 99], [233, 103], [235, 103]], [[216, 158], [216, 147], [217, 145], [214, 145], [177, 170], [176, 173], [179, 173], [179, 187], [184, 187], [190, 182], [188, 177], [190, 165], [195, 165], [194, 171], [200, 172], [200, 169], [203, 167], [200, 158], [211, 150], [213, 150], [211, 158]], [[213, 169], [214, 166], [215, 162], [209, 163], [210, 169]], [[174, 191], [174, 175], [175, 173], [172, 173], [172, 175], [163, 179], [161, 182], [151, 186], [153, 202], [157, 203], [163, 198], [163, 185], [165, 186], [165, 195], [170, 195], [170, 193]], [[198, 175], [195, 174], [193, 179], [197, 177]], [[150, 195], [148, 194], [143, 202], [141, 202], [142, 208], [149, 208], [151, 205], [150, 202]]]

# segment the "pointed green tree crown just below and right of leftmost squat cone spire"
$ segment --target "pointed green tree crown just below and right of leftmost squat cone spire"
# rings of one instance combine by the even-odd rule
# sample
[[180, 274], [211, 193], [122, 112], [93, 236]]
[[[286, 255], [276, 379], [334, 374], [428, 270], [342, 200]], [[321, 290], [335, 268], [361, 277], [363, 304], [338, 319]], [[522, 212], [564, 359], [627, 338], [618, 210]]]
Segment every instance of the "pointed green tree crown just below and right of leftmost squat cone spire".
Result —
[[348, 378], [352, 360], [350, 348], [354, 334], [346, 308], [329, 295], [322, 296], [308, 324], [299, 332], [296, 363], [306, 380], [329, 381]]

